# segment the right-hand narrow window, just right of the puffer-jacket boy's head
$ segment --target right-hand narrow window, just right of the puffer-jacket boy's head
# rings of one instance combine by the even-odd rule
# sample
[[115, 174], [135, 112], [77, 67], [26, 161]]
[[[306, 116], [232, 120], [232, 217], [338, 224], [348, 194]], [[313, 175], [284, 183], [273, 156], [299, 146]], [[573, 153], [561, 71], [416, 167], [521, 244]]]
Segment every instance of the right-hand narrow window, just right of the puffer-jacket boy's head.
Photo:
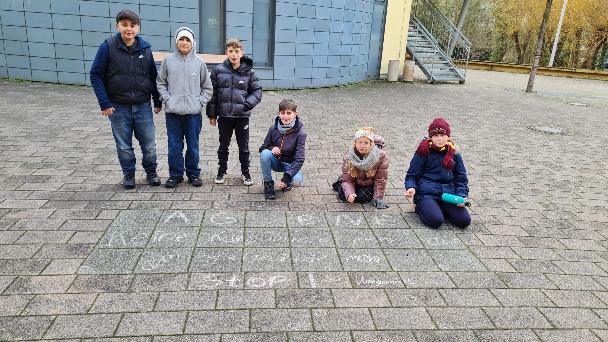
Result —
[[271, 66], [274, 32], [274, 0], [254, 0], [252, 57], [254, 65]]

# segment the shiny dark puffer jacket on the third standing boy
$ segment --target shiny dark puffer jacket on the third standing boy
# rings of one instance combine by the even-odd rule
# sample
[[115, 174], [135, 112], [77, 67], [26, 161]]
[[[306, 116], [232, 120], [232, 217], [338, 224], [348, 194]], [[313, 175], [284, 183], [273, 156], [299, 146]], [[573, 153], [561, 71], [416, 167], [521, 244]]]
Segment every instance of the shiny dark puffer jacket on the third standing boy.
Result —
[[251, 110], [262, 99], [262, 83], [253, 66], [254, 61], [243, 56], [237, 69], [232, 68], [228, 58], [213, 69], [213, 96], [207, 103], [207, 117], [251, 116]]

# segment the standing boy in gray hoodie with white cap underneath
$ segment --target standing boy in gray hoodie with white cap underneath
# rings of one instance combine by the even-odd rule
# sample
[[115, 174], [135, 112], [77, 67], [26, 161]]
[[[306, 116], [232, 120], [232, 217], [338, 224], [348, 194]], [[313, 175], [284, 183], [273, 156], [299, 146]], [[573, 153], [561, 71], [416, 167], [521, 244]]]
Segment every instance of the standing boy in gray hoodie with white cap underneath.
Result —
[[[198, 139], [201, 134], [201, 111], [213, 94], [207, 65], [196, 55], [194, 32], [180, 27], [175, 32], [176, 51], [162, 60], [156, 88], [165, 108], [167, 122], [169, 179], [166, 187], [184, 181], [184, 171], [193, 186], [201, 186], [198, 167]], [[184, 138], [186, 157], [184, 164]], [[184, 167], [185, 166], [185, 167]]]

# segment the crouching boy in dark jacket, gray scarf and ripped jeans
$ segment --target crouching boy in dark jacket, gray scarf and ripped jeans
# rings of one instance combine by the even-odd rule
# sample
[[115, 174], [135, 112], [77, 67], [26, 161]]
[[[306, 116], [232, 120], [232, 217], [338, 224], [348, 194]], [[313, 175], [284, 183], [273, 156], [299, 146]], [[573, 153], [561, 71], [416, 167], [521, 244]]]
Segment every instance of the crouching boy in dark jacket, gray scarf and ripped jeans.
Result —
[[293, 100], [285, 99], [278, 104], [278, 116], [268, 129], [260, 147], [260, 167], [264, 178], [264, 196], [276, 198], [272, 171], [283, 172], [278, 187], [283, 192], [302, 185], [302, 164], [306, 159], [306, 132], [304, 122], [297, 116]]

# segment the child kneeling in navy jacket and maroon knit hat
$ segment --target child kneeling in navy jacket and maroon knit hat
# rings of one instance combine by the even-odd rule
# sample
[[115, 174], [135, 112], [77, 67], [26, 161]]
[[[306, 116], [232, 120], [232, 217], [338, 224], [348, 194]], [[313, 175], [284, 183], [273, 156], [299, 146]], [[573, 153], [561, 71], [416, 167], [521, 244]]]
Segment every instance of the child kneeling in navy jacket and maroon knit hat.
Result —
[[471, 224], [465, 204], [441, 201], [447, 194], [469, 197], [465, 164], [450, 138], [450, 127], [443, 117], [433, 120], [429, 137], [420, 142], [406, 175], [406, 197], [413, 197], [414, 211], [430, 228], [443, 225], [444, 217], [460, 228]]

